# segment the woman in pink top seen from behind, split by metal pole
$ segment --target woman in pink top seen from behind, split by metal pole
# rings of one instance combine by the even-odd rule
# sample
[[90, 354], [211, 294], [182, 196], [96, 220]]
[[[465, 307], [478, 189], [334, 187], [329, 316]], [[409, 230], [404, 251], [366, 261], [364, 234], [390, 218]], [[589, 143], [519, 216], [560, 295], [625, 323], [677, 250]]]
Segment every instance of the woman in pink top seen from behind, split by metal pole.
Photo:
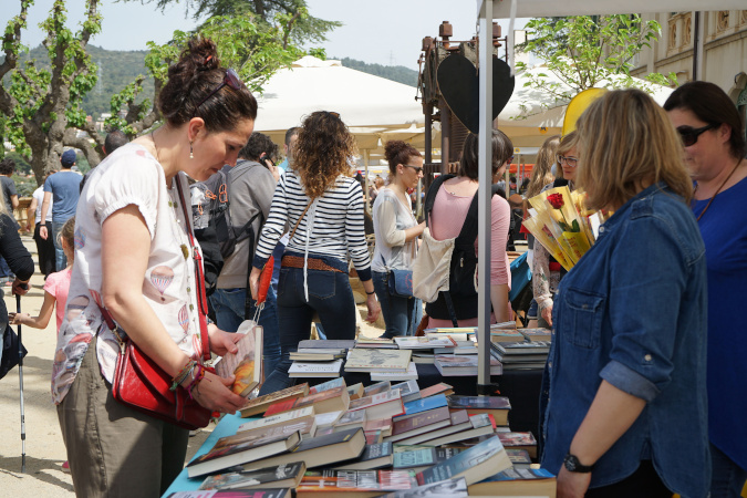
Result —
[[[506, 166], [513, 155], [513, 144], [499, 129], [492, 131], [492, 183], [506, 172]], [[430, 235], [437, 240], [457, 237], [467, 218], [467, 211], [477, 195], [479, 169], [477, 165], [477, 135], [469, 134], [465, 139], [457, 176], [444, 181], [436, 194], [436, 201], [430, 211]], [[500, 195], [492, 196], [490, 209], [490, 302], [492, 304], [491, 321], [510, 320], [508, 291], [511, 287], [506, 243], [511, 222], [511, 208]], [[475, 239], [477, 255], [477, 239]], [[477, 255], [479, 257], [479, 255]], [[477, 295], [459, 295], [450, 292], [459, 326], [477, 325]], [[449, 319], [443, 295], [425, 307], [428, 314], [428, 326], [454, 326]]]

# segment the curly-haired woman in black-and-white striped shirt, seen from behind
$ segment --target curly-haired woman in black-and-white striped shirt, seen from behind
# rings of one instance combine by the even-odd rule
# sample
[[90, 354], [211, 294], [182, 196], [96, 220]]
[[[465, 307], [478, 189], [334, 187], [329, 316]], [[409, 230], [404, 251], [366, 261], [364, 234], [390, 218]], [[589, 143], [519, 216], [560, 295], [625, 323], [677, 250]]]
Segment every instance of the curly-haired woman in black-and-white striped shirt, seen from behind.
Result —
[[280, 178], [272, 198], [250, 276], [256, 298], [259, 274], [284, 227], [293, 227], [278, 281], [280, 364], [260, 395], [289, 387], [289, 354], [309, 339], [314, 312], [328, 339], [355, 338], [355, 301], [347, 279], [353, 260], [366, 292], [366, 320], [381, 312], [371, 280], [371, 261], [363, 230], [363, 191], [351, 177], [349, 159], [355, 141], [336, 113], [314, 112], [303, 122], [293, 146], [293, 164]]

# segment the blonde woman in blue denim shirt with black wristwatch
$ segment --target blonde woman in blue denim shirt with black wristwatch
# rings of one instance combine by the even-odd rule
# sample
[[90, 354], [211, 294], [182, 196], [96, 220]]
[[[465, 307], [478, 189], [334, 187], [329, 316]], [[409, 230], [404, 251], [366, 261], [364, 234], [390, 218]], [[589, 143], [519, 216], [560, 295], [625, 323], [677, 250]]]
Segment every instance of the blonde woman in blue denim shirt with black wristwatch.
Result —
[[558, 497], [708, 492], [706, 267], [666, 113], [610, 92], [578, 123], [579, 188], [614, 210], [561, 281], [543, 378]]

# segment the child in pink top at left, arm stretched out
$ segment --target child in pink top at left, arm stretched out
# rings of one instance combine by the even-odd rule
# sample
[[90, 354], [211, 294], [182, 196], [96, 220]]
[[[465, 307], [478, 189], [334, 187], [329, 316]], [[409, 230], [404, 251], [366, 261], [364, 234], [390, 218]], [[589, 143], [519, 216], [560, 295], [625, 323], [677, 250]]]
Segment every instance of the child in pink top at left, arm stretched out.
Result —
[[54, 310], [58, 319], [58, 333], [65, 314], [65, 303], [68, 302], [68, 290], [70, 289], [70, 277], [73, 271], [73, 260], [75, 259], [75, 217], [70, 218], [60, 230], [60, 243], [68, 258], [68, 268], [62, 271], [50, 273], [44, 281], [44, 302], [39, 317], [30, 317], [29, 313], [8, 313], [10, 323], [13, 325], [28, 325], [34, 329], [46, 329]]

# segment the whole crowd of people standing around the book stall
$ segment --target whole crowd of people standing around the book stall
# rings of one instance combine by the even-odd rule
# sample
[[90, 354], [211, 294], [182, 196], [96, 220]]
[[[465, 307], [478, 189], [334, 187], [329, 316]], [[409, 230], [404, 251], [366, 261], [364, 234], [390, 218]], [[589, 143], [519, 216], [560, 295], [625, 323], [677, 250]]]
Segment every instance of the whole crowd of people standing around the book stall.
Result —
[[[193, 39], [168, 76], [160, 127], [132, 143], [111, 134], [107, 157], [84, 181], [72, 170], [74, 151], [64, 152], [60, 170], [34, 191], [28, 229], [33, 216], [46, 280], [39, 314], [9, 314], [0, 300], [4, 323], [45, 328], [55, 312], [52, 397], [77, 496], [159, 496], [187, 449], [187, 429], [113, 397], [122, 338], [110, 315], [173, 377], [173, 390], [219, 413], [246, 400], [231, 392], [232, 377], [203, 366], [205, 355], [237, 351], [235, 332], [257, 319], [259, 395], [292, 385], [290, 354], [313, 323], [326, 339], [355, 338], [353, 269], [365, 319], [383, 315], [383, 338], [477, 323], [478, 135], [466, 137], [456, 175], [442, 175], [424, 195], [418, 218], [412, 191], [424, 159], [412, 145], [385, 144], [388, 175], [371, 185], [366, 206], [344, 116], [304, 116], [288, 131], [279, 163], [278, 146], [253, 132], [257, 101], [220, 65], [210, 40]], [[553, 333], [540, 463], [558, 475], [559, 497], [740, 495], [747, 340], [730, 312], [747, 298], [744, 129], [710, 83], [682, 85], [663, 108], [642, 91], [612, 91], [591, 103], [575, 132], [544, 142], [530, 178], [508, 185], [501, 178], [513, 145], [492, 131], [485, 276], [492, 322], [516, 320], [512, 209], [568, 186], [610, 215], [568, 272], [528, 241], [529, 326]], [[18, 195], [8, 172], [2, 162], [0, 277], [23, 294], [33, 262], [12, 218]], [[454, 239], [452, 267], [474, 276], [427, 303], [395, 284], [412, 274], [424, 232]], [[271, 283], [260, 290], [267, 273]]]

